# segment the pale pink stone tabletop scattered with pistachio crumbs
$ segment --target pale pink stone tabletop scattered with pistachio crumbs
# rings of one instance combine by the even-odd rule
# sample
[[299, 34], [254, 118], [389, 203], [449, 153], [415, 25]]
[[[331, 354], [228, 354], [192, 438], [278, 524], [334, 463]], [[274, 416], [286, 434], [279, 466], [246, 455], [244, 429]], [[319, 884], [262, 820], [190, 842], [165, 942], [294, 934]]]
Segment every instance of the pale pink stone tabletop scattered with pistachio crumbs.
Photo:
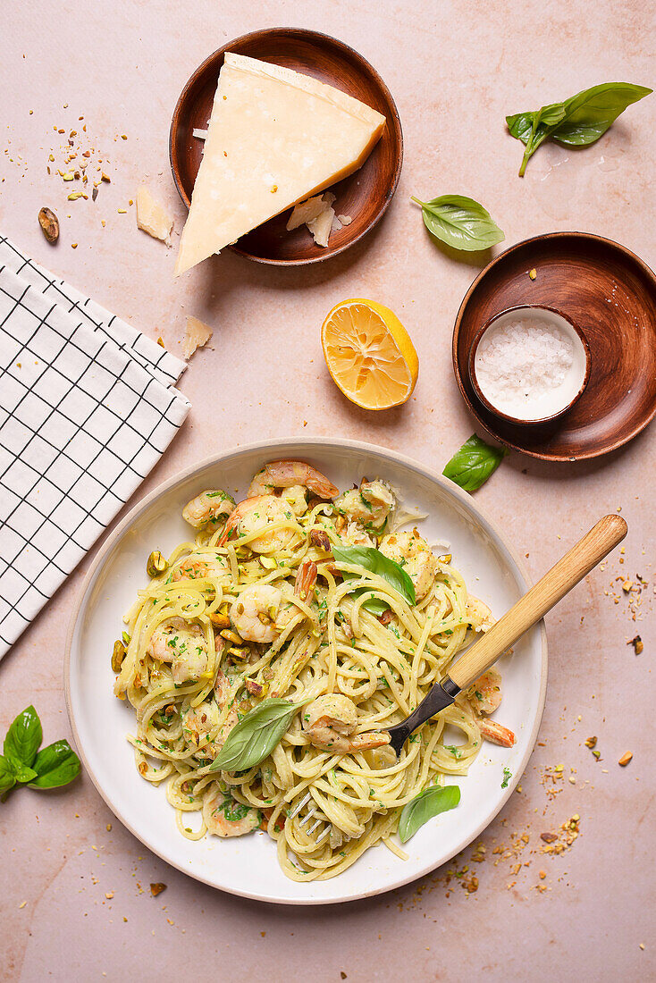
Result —
[[[214, 48], [280, 24], [334, 34], [381, 72], [405, 137], [396, 197], [366, 241], [325, 264], [276, 269], [226, 252], [174, 281], [174, 251], [137, 230], [128, 202], [147, 183], [173, 208], [177, 242], [184, 210], [167, 141], [178, 94]], [[508, 245], [579, 229], [656, 260], [656, 96], [630, 107], [597, 145], [543, 147], [523, 181], [521, 149], [504, 123], [508, 112], [600, 82], [653, 85], [655, 32], [642, 0], [31, 0], [5, 5], [2, 34], [0, 228], [175, 353], [187, 314], [213, 326], [211, 348], [197, 353], [181, 384], [193, 403], [189, 420], [135, 501], [210, 452], [263, 437], [343, 434], [443, 467], [473, 430], [452, 376], [450, 335], [479, 267], [430, 241], [411, 194], [470, 195], [505, 229]], [[80, 116], [111, 176], [95, 203], [67, 202], [70, 185], [46, 174], [50, 149], [83, 125]], [[43, 204], [61, 218], [54, 249], [36, 224]], [[387, 304], [412, 335], [420, 375], [405, 407], [372, 416], [330, 381], [319, 328], [349, 296]], [[484, 834], [485, 862], [472, 862], [467, 850], [447, 865], [468, 865], [464, 880], [478, 877], [476, 893], [458, 878], [447, 887], [443, 868], [388, 896], [327, 908], [222, 895], [150, 854], [83, 776], [61, 792], [22, 789], [0, 805], [0, 978], [656, 978], [655, 457], [653, 427], [580, 465], [513, 454], [478, 492], [535, 576], [604, 512], [621, 508], [629, 535], [625, 554], [616, 552], [548, 618], [547, 708], [521, 791]], [[62, 658], [89, 560], [0, 665], [3, 733], [33, 702], [45, 742], [70, 737]], [[620, 580], [636, 574], [647, 586], [634, 622]], [[636, 631], [641, 656], [626, 644]], [[592, 734], [599, 762], [584, 746]], [[627, 750], [633, 760], [623, 769]], [[541, 779], [559, 764], [564, 780], [549, 799]], [[572, 848], [541, 856], [540, 833], [573, 814], [580, 836]], [[516, 860], [493, 852], [524, 833], [529, 842]], [[530, 865], [513, 873], [524, 861]], [[155, 881], [167, 885], [157, 898], [149, 893]]]

